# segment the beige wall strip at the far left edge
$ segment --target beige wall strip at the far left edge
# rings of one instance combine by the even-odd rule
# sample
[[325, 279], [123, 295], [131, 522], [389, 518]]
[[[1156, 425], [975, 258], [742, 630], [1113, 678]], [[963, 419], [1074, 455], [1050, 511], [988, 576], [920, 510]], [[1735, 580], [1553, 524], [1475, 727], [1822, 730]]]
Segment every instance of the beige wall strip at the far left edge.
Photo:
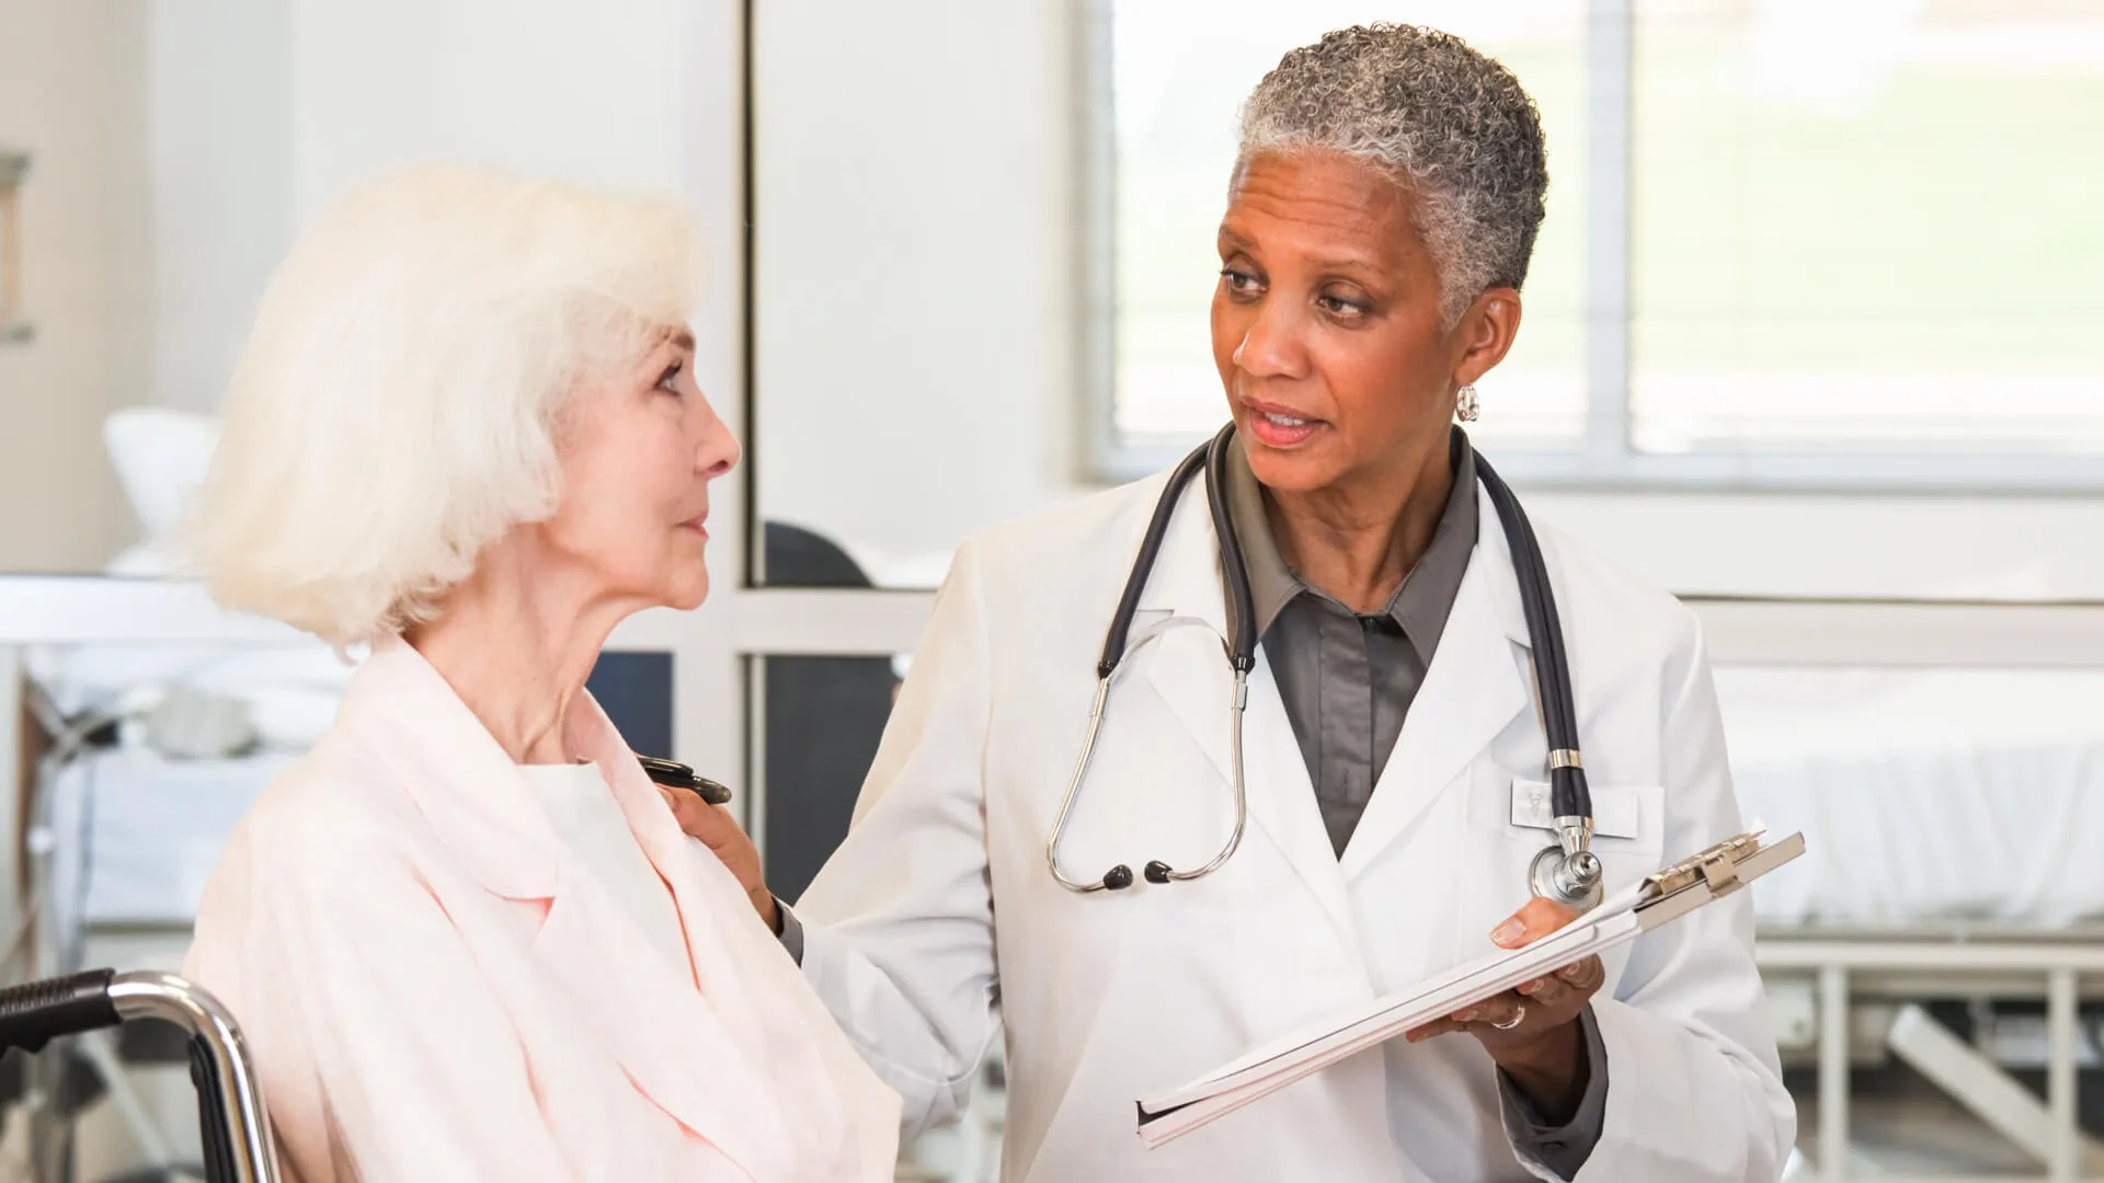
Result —
[[137, 398], [151, 301], [141, 2], [0, 4], [0, 147], [36, 339], [0, 345], [0, 570], [95, 570], [124, 533], [101, 417]]

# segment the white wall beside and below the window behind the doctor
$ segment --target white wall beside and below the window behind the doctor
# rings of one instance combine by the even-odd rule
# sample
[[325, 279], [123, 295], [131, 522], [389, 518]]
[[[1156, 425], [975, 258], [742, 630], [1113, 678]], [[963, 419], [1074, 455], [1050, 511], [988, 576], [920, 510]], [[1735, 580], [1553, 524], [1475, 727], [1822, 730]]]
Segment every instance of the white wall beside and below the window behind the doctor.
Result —
[[[926, 583], [1073, 497], [1077, 0], [757, 6], [760, 507]], [[1485, 408], [1496, 415], [1496, 406]], [[1536, 493], [1683, 594], [2104, 598], [2104, 503]]]

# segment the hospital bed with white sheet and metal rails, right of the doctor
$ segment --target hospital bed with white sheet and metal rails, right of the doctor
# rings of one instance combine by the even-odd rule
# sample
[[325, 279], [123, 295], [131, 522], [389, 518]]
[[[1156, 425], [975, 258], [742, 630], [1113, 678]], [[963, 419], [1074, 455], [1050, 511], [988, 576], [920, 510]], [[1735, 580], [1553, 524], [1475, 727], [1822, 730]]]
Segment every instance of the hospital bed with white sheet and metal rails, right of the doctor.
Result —
[[[1755, 890], [1784, 1063], [1816, 1080], [1820, 1168], [1797, 1177], [1904, 1177], [1852, 1149], [1852, 1076], [1894, 1065], [1999, 1135], [1995, 1177], [2104, 1177], [2079, 1107], [2104, 1080], [2104, 671], [1721, 667], [1717, 686], [1746, 817], [1812, 840]], [[1963, 1151], [1917, 1149], [1923, 1179], [1959, 1177]]]

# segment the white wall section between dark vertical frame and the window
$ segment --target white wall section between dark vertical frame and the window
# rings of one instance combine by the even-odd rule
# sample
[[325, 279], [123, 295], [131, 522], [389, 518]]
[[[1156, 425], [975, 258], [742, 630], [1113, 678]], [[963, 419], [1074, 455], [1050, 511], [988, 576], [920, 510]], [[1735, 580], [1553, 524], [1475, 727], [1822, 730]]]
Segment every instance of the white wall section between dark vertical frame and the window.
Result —
[[1077, 488], [1069, 25], [1044, 0], [755, 4], [753, 455], [875, 566]]

